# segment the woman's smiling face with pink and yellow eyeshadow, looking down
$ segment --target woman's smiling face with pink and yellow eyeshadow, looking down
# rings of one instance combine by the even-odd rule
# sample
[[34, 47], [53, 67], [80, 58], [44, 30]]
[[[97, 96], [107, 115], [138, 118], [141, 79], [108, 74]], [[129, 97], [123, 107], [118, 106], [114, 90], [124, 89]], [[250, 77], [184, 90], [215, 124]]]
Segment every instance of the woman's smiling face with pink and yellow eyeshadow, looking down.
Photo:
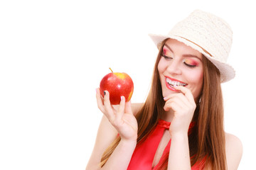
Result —
[[196, 101], [203, 85], [202, 60], [201, 52], [178, 40], [167, 40], [158, 64], [163, 96], [177, 93], [173, 88], [174, 85], [186, 86], [191, 90]]

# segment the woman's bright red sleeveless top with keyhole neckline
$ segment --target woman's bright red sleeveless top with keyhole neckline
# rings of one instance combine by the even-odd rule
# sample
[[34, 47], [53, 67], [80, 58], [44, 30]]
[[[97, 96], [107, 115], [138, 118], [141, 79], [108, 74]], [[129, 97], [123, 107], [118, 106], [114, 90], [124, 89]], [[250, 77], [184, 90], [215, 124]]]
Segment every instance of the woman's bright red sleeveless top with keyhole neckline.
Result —
[[[166, 148], [164, 149], [164, 153], [162, 154], [159, 163], [156, 164], [156, 166], [152, 167], [154, 155], [156, 153], [156, 149], [159, 145], [161, 137], [164, 134], [164, 130], [169, 130], [170, 125], [171, 123], [169, 122], [159, 120], [159, 123], [156, 125], [156, 128], [151, 132], [151, 134], [148, 137], [146, 137], [146, 140], [144, 140], [144, 142], [142, 142], [140, 145], [137, 145], [137, 147], [135, 148], [127, 170], [156, 170], [160, 166], [161, 162], [164, 162], [164, 155], [169, 155], [171, 140], [166, 145]], [[191, 123], [189, 130], [191, 130], [193, 125], [194, 124]], [[196, 163], [195, 165], [192, 166], [191, 170], [200, 169], [202, 164], [203, 162]]]

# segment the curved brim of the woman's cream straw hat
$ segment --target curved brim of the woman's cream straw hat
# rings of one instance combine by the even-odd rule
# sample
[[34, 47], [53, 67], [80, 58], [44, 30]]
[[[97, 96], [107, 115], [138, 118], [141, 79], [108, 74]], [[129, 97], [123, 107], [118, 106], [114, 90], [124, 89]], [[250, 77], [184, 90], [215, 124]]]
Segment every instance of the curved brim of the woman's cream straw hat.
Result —
[[179, 42], [183, 42], [185, 45], [188, 45], [189, 47], [192, 47], [195, 50], [198, 50], [198, 52], [201, 52], [210, 62], [212, 62], [220, 71], [220, 79], [221, 82], [224, 83], [226, 81], [230, 81], [230, 79], [233, 79], [235, 77], [235, 69], [231, 67], [229, 64], [220, 62], [218, 60], [215, 60], [213, 57], [209, 55], [208, 52], [203, 50], [201, 47], [196, 45], [195, 43], [186, 40], [186, 38], [181, 38], [176, 35], [156, 35], [156, 34], [149, 34], [149, 37], [153, 40], [156, 47], [159, 48], [159, 45], [161, 45], [161, 42], [163, 40], [166, 40], [167, 38], [178, 40]]

